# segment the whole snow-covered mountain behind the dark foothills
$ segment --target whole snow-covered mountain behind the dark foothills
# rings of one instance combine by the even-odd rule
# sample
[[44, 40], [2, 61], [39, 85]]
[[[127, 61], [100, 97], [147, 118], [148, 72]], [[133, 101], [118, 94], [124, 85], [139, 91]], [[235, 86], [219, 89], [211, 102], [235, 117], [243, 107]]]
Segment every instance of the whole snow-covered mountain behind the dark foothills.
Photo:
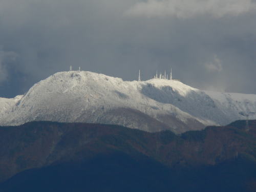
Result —
[[85, 71], [59, 72], [25, 95], [0, 98], [0, 125], [48, 120], [181, 133], [247, 115], [256, 119], [256, 95], [201, 91], [167, 79], [123, 81]]

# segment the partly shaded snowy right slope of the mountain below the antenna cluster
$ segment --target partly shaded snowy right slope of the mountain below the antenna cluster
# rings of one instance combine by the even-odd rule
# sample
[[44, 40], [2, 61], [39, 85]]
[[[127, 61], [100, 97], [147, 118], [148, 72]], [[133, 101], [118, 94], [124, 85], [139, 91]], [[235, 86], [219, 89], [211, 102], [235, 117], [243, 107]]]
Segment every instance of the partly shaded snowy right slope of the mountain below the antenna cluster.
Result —
[[246, 115], [249, 119], [256, 119], [256, 95], [201, 91], [179, 81], [163, 79], [146, 82], [151, 82], [154, 89], [144, 88], [144, 95], [162, 103], [171, 103], [199, 119], [219, 125], [245, 119]]

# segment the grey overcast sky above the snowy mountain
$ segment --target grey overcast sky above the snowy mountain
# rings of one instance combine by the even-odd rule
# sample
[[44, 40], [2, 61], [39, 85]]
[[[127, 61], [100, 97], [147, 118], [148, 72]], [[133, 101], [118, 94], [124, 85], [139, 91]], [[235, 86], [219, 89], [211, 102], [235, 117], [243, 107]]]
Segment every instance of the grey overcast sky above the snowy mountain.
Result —
[[0, 0], [0, 97], [69, 66], [256, 94], [254, 0]]

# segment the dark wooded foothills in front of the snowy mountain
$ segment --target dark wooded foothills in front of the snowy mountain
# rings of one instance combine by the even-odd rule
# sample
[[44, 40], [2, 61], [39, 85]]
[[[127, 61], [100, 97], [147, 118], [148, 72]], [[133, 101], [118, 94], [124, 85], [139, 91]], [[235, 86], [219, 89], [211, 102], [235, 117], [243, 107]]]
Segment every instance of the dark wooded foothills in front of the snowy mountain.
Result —
[[0, 191], [256, 189], [256, 120], [176, 135], [118, 125], [0, 127]]

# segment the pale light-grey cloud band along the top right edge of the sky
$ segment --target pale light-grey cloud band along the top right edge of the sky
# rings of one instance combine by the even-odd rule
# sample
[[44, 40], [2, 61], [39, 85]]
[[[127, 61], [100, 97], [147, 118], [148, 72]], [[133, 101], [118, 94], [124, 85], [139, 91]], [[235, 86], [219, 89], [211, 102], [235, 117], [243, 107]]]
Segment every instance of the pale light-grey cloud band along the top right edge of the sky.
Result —
[[252, 10], [256, 10], [256, 3], [252, 0], [147, 0], [135, 4], [125, 15], [179, 18], [210, 15], [218, 18], [237, 16]]

